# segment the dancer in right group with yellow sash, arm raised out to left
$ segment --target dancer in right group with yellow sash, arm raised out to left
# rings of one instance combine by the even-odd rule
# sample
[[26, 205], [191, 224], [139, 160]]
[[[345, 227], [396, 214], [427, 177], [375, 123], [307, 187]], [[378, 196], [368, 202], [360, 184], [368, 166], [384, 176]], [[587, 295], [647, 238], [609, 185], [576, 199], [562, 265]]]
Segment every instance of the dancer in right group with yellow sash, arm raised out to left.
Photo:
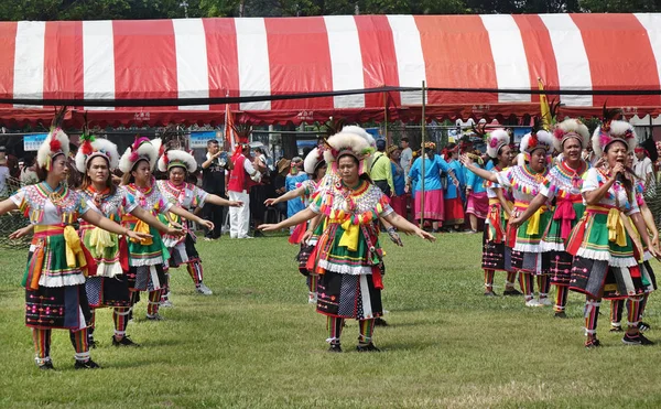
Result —
[[[538, 195], [541, 182], [548, 173], [546, 163], [553, 153], [553, 137], [544, 130], [533, 128], [521, 140], [519, 165], [491, 173], [473, 164], [468, 155], [463, 157], [464, 164], [475, 174], [485, 180], [511, 189], [514, 197], [514, 216], [524, 212], [530, 202]], [[519, 282], [525, 297], [525, 306], [551, 305], [549, 300], [549, 260], [541, 255], [540, 241], [543, 228], [548, 225], [551, 214], [548, 205], [541, 206], [534, 215], [520, 227], [508, 226], [506, 232], [507, 246], [511, 247], [511, 267], [519, 271]], [[534, 298], [533, 276], [538, 278], [539, 299]]]

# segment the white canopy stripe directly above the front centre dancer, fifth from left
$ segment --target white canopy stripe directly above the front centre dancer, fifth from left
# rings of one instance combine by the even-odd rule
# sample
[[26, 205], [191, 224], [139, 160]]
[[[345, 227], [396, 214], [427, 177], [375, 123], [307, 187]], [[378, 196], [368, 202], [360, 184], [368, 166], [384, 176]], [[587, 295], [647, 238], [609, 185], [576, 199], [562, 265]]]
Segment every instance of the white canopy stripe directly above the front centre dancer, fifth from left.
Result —
[[[362, 89], [362, 54], [353, 15], [324, 17], [330, 51], [333, 90]], [[335, 108], [365, 108], [365, 94], [333, 97]]]

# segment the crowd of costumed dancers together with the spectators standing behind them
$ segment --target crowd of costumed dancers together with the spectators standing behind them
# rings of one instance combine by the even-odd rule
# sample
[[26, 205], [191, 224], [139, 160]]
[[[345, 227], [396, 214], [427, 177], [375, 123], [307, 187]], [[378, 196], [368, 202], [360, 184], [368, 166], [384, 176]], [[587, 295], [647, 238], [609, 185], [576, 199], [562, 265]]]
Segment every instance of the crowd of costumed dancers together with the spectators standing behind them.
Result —
[[[37, 182], [0, 202], [0, 215], [19, 209], [30, 219], [11, 237], [33, 235], [23, 286], [37, 367], [53, 369], [51, 333], [65, 329], [75, 368], [97, 368], [89, 349], [98, 308], [113, 309], [112, 345], [137, 346], [127, 335], [134, 308], [147, 292], [147, 319], [162, 319], [160, 308], [171, 305], [170, 268], [185, 266], [196, 291], [213, 293], [203, 281], [195, 225], [217, 239], [229, 207], [230, 238], [249, 238], [252, 205], [284, 203], [286, 219], [264, 224], [253, 213], [252, 223], [257, 230], [290, 228], [290, 241], [301, 245], [299, 270], [310, 302], [327, 317], [330, 352], [343, 351], [347, 319], [359, 321], [357, 351], [379, 351], [380, 232], [398, 245], [398, 232], [433, 241], [431, 233], [463, 230], [466, 215], [469, 233], [484, 220], [485, 295], [497, 295], [495, 271], [507, 275], [503, 295], [523, 295], [525, 306], [554, 305], [557, 317], [567, 317], [568, 291], [583, 293], [590, 348], [600, 345], [602, 300], [611, 300], [611, 331], [625, 331], [626, 305], [622, 342], [652, 344], [641, 317], [657, 288], [649, 260], [660, 251], [643, 193], [655, 182], [636, 172], [633, 128], [610, 112], [590, 138], [585, 125], [567, 119], [550, 130], [535, 127], [518, 155], [506, 129], [475, 131], [486, 140], [484, 154], [455, 143], [438, 153], [433, 142], [413, 152], [405, 138], [388, 147], [347, 126], [304, 159], [279, 161], [271, 176], [280, 186], [268, 197], [253, 189], [270, 173], [263, 152], [247, 143], [228, 157], [210, 140], [199, 187], [194, 157], [160, 139], [137, 138], [120, 157], [112, 142], [84, 134], [73, 153], [54, 127], [35, 158]], [[423, 219], [429, 226], [420, 228]]]

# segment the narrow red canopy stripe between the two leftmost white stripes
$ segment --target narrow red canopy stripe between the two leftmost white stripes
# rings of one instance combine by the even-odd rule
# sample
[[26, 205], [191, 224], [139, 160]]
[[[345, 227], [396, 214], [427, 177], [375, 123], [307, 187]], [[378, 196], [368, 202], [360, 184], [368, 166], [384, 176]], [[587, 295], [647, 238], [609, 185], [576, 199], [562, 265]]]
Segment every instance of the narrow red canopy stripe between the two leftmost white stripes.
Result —
[[46, 22], [44, 99], [83, 98], [83, 22]]

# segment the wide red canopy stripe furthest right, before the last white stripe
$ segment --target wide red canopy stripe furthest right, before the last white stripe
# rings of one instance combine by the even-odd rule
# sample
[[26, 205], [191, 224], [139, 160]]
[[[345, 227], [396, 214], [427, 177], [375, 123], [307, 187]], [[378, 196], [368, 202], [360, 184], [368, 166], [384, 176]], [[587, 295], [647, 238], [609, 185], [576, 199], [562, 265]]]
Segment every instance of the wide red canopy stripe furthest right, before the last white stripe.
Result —
[[[633, 14], [572, 14], [589, 61], [593, 89], [659, 89], [657, 61]], [[597, 96], [593, 106], [659, 106], [658, 95]]]

